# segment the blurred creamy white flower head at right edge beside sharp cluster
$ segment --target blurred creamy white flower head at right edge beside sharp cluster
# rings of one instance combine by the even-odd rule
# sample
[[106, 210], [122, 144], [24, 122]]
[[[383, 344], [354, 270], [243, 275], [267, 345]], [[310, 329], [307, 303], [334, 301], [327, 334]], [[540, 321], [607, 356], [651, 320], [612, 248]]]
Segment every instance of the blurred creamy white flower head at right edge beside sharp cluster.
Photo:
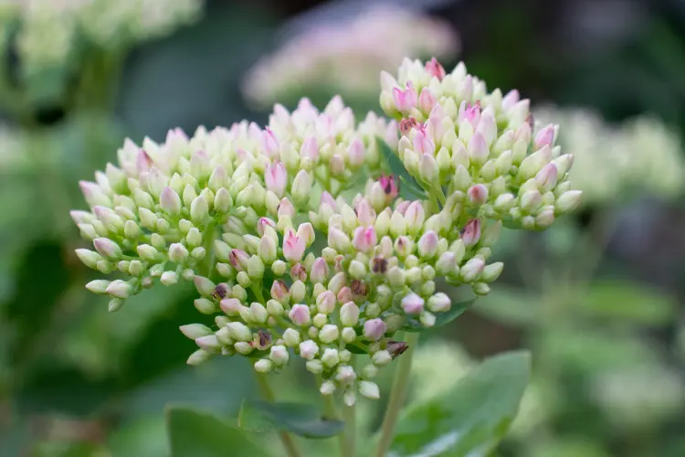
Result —
[[574, 186], [584, 203], [606, 203], [638, 190], [673, 197], [683, 189], [685, 162], [678, 135], [650, 116], [609, 125], [596, 112], [545, 107], [535, 120], [561, 126], [560, 143], [574, 154]]

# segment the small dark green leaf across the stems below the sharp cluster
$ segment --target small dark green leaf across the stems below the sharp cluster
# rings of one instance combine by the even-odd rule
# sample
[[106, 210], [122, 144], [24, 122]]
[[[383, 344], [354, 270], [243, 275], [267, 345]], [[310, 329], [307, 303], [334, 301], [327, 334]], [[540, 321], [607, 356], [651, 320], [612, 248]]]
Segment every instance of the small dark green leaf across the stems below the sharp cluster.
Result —
[[304, 403], [269, 403], [245, 399], [237, 416], [243, 430], [284, 430], [306, 438], [330, 438], [342, 432], [342, 420], [327, 420], [319, 409]]

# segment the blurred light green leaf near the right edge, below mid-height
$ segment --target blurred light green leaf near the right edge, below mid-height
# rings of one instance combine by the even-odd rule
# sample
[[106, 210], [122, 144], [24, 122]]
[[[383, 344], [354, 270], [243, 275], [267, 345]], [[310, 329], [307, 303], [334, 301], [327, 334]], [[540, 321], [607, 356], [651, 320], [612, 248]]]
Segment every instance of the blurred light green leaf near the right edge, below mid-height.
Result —
[[674, 301], [645, 284], [595, 282], [578, 304], [591, 317], [623, 319], [635, 324], [669, 324], [675, 313]]

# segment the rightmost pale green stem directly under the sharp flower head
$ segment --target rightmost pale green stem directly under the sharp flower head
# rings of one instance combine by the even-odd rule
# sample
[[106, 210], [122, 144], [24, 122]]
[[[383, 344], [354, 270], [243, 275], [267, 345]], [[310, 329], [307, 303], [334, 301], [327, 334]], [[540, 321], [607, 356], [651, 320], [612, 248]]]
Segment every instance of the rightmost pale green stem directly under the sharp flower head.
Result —
[[409, 372], [412, 367], [412, 356], [414, 355], [417, 343], [418, 333], [411, 332], [406, 334], [406, 345], [408, 345], [409, 348], [406, 350], [405, 354], [400, 356], [399, 366], [395, 372], [395, 380], [393, 381], [393, 387], [390, 390], [390, 399], [388, 400], [387, 409], [385, 409], [381, 439], [378, 441], [376, 457], [385, 457], [385, 453], [390, 447], [390, 441], [393, 439], [395, 423], [397, 422], [399, 411], [405, 403], [406, 388], [409, 386]]

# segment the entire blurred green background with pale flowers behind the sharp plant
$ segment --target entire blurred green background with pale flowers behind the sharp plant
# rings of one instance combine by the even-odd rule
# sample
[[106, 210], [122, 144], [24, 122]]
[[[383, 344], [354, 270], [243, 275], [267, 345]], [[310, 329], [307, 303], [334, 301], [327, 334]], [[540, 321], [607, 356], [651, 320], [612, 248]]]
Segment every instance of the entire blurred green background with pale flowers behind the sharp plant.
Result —
[[[378, 72], [434, 55], [560, 123], [585, 203], [502, 235], [501, 281], [422, 343], [410, 401], [523, 347], [532, 384], [498, 455], [685, 455], [682, 0], [0, 2], [0, 455], [167, 455], [165, 405], [230, 417], [256, 390], [243, 360], [184, 365], [184, 285], [116, 314], [85, 291], [79, 179], [125, 137], [263, 123], [275, 101], [378, 111]], [[318, 400], [300, 372], [280, 386]]]

